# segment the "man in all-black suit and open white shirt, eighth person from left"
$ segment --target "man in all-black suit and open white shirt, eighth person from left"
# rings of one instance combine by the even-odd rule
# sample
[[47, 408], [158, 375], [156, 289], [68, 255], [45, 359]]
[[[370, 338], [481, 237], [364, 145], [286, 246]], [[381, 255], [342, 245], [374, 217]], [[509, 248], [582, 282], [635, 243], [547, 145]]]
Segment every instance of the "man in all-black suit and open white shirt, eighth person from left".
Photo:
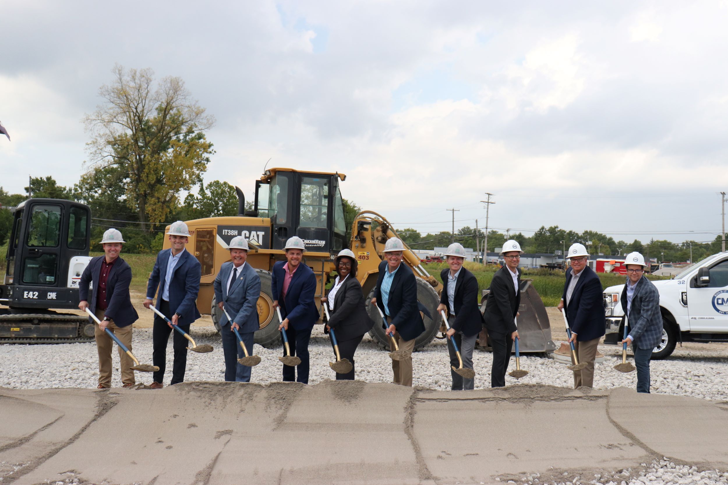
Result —
[[488, 343], [493, 348], [491, 367], [491, 388], [505, 386], [505, 373], [510, 363], [513, 340], [518, 337], [516, 316], [521, 305], [521, 244], [510, 239], [505, 241], [499, 253], [505, 266], [496, 271], [491, 280], [488, 300], [486, 300], [486, 329]]

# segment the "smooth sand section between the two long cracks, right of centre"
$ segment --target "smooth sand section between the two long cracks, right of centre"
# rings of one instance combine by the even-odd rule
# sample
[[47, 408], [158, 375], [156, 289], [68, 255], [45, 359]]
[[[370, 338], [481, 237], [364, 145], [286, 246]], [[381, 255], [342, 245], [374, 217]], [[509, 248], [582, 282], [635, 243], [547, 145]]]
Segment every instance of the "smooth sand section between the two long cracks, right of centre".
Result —
[[423, 394], [414, 436], [438, 483], [633, 465], [645, 452], [606, 417], [606, 393], [514, 385]]

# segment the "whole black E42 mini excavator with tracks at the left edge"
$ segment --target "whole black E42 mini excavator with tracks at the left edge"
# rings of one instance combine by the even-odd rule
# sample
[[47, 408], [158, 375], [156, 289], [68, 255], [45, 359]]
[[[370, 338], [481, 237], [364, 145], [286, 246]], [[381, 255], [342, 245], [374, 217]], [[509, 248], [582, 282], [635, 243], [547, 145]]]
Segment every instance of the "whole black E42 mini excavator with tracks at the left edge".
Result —
[[[28, 199], [15, 208], [0, 285], [0, 342], [85, 341], [87, 318], [50, 308], [77, 308], [81, 273], [91, 259], [91, 211], [59, 199]], [[47, 343], [47, 342], [44, 342]]]

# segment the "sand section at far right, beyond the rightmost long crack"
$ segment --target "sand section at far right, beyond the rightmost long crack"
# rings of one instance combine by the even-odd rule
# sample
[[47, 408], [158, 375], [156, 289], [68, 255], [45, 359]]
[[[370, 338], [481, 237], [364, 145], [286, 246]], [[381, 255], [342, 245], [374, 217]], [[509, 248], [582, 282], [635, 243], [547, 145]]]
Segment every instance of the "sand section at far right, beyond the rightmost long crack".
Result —
[[609, 395], [609, 416], [660, 456], [728, 465], [728, 412], [720, 404], [619, 388]]

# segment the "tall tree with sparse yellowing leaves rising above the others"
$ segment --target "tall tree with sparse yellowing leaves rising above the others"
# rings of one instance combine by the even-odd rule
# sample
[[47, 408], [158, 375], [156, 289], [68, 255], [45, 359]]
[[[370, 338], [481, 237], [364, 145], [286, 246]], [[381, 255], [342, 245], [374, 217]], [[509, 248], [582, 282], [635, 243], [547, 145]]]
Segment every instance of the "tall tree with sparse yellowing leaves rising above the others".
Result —
[[179, 191], [202, 181], [213, 144], [205, 130], [214, 119], [192, 99], [178, 77], [154, 84], [151, 69], [115, 65], [114, 81], [102, 86], [103, 105], [85, 116], [90, 172], [117, 167], [126, 202], [145, 223], [159, 224], [178, 204]]

